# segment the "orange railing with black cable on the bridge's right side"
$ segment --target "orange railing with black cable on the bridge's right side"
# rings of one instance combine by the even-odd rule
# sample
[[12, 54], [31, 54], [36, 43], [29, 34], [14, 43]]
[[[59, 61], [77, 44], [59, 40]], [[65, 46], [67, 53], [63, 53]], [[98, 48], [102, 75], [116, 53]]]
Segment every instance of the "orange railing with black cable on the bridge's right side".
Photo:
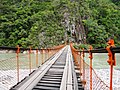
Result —
[[[80, 77], [85, 90], [113, 90], [112, 76], [113, 76], [113, 66], [116, 65], [115, 53], [120, 53], [120, 47], [115, 47], [114, 43], [111, 43], [111, 41], [109, 41], [108, 44], [109, 45], [107, 46], [106, 49], [92, 50], [92, 47], [90, 46], [89, 50], [83, 49], [81, 51], [78, 51], [73, 47], [71, 43], [70, 46], [75, 61], [75, 65], [79, 68]], [[90, 60], [89, 64], [87, 64], [84, 60], [85, 53], [89, 54], [89, 60]], [[93, 53], [108, 53], [109, 58], [107, 62], [110, 65], [110, 77], [109, 77], [110, 85], [104, 83], [104, 81], [102, 81], [101, 78], [98, 77], [95, 70], [93, 69], [92, 66]]]

